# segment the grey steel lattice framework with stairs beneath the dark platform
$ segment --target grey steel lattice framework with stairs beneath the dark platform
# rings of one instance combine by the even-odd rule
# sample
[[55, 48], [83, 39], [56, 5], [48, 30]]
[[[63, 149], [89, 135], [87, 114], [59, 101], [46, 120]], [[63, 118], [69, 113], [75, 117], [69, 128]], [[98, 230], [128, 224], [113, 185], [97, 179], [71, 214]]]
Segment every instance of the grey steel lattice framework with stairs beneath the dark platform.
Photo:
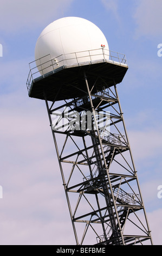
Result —
[[[46, 101], [76, 244], [152, 245], [116, 90], [115, 78], [119, 71], [113, 73], [110, 86], [102, 72], [103, 65], [97, 71], [89, 65], [79, 70], [77, 81], [81, 81], [82, 86], [77, 87], [77, 94], [80, 92], [80, 97], [57, 101], [61, 92], [58, 89], [53, 101], [49, 101], [45, 84], [41, 92]], [[68, 72], [70, 94], [76, 88], [76, 79], [73, 84], [72, 69]], [[45, 83], [43, 81], [41, 83]]]

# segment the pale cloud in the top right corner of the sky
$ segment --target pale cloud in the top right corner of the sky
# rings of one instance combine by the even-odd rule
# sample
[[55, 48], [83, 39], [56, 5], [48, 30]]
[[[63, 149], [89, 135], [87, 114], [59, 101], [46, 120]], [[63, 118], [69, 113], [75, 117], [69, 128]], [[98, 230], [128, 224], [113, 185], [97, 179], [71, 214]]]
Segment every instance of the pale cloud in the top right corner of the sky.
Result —
[[157, 36], [162, 32], [161, 0], [139, 0], [134, 19], [137, 23], [136, 35]]

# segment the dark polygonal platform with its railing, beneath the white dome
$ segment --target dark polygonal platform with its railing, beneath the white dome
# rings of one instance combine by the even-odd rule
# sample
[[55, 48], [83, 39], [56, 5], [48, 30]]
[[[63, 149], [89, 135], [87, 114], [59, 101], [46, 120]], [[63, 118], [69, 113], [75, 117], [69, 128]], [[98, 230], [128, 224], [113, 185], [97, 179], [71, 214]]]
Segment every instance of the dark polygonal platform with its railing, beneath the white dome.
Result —
[[[99, 50], [102, 51], [100, 54]], [[106, 52], [105, 49], [71, 53], [71, 56], [64, 54], [54, 59], [49, 54], [39, 61], [40, 66], [36, 66], [35, 61], [29, 63], [28, 94], [29, 97], [41, 100], [44, 100], [45, 94], [48, 101], [85, 96], [85, 74], [89, 87], [93, 87], [92, 93], [96, 93], [121, 83], [128, 69], [125, 54], [109, 50]]]

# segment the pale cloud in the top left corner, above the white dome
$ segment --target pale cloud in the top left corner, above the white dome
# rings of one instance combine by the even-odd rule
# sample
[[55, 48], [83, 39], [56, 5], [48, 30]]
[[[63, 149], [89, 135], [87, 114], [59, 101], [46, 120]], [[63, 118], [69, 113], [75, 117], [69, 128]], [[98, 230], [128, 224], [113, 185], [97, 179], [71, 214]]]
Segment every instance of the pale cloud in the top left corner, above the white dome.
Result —
[[0, 30], [15, 33], [54, 21], [63, 16], [74, 0], [1, 0]]

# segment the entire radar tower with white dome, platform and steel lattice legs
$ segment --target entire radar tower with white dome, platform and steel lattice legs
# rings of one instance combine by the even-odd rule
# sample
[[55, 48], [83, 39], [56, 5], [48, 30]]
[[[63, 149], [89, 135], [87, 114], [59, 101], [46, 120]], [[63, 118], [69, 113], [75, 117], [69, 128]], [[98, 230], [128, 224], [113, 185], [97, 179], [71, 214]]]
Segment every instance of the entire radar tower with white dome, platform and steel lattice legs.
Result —
[[46, 102], [76, 245], [152, 245], [116, 89], [125, 55], [92, 22], [67, 17], [44, 29], [35, 56], [28, 93]]

